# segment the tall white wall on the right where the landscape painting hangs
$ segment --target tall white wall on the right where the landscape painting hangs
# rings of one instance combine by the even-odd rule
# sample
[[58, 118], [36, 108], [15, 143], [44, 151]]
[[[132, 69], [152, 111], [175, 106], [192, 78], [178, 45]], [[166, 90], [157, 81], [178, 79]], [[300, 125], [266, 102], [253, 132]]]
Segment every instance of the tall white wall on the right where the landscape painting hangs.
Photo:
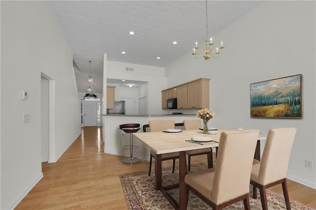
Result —
[[[316, 188], [315, 1], [263, 1], [213, 42], [224, 41], [223, 53], [205, 61], [192, 52], [169, 65], [168, 86], [199, 77], [210, 80], [212, 127], [296, 127], [288, 178]], [[194, 43], [193, 43], [194, 44]], [[192, 72], [185, 74], [183, 72]], [[181, 73], [181, 78], [176, 77]], [[302, 74], [302, 119], [250, 118], [250, 83]], [[194, 75], [194, 76], [193, 76]], [[305, 167], [305, 159], [314, 169]]]

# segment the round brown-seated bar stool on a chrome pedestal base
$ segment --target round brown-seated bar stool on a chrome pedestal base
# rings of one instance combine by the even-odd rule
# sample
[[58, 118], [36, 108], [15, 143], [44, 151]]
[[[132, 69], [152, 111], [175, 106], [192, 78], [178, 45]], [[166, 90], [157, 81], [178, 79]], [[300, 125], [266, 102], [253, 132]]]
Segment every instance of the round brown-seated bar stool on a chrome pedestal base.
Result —
[[140, 160], [138, 158], [133, 158], [133, 149], [138, 148], [138, 146], [133, 145], [133, 136], [132, 133], [136, 133], [140, 129], [140, 124], [138, 123], [129, 123], [119, 125], [119, 129], [124, 131], [127, 134], [130, 134], [130, 144], [123, 146], [124, 149], [129, 149], [130, 158], [124, 159], [122, 162], [127, 164], [138, 163]]

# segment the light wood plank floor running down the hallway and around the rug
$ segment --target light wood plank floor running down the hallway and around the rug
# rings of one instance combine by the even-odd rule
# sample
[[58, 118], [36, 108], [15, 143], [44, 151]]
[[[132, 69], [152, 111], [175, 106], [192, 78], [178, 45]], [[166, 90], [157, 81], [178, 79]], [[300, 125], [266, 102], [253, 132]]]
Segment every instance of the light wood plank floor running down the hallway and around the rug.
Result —
[[[118, 175], [148, 172], [149, 162], [124, 164], [126, 157], [104, 153], [103, 145], [101, 127], [83, 128], [82, 135], [57, 163], [42, 163], [44, 177], [16, 210], [125, 210]], [[192, 157], [193, 163], [202, 161], [206, 157]], [[170, 166], [172, 161], [163, 161], [163, 167]], [[291, 199], [316, 209], [315, 189], [290, 180], [288, 189]], [[273, 190], [282, 193], [280, 186]]]

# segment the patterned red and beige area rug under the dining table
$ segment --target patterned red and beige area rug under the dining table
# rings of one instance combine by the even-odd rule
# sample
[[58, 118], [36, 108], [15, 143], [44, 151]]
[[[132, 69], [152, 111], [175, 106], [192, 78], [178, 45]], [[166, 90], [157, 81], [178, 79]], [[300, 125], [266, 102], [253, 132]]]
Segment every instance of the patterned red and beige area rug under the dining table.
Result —
[[[191, 166], [191, 172], [206, 169], [207, 165]], [[128, 210], [173, 210], [174, 208], [169, 204], [166, 198], [158, 190], [155, 190], [155, 174], [151, 176], [142, 173], [125, 174], [119, 176], [123, 188], [126, 205]], [[171, 169], [163, 169], [162, 171], [162, 186], [174, 184], [179, 182], [179, 171], [171, 173]], [[258, 198], [252, 198], [252, 186], [250, 185], [250, 208], [251, 210], [262, 210], [260, 194], [257, 193]], [[170, 195], [179, 201], [179, 189], [172, 189], [168, 191]], [[281, 194], [267, 189], [268, 209], [270, 210], [286, 210], [284, 197]], [[292, 210], [313, 210], [290, 200]], [[190, 192], [187, 210], [211, 210], [206, 203], [200, 200], [194, 193]], [[243, 202], [238, 202], [231, 205], [224, 210], [243, 210]]]

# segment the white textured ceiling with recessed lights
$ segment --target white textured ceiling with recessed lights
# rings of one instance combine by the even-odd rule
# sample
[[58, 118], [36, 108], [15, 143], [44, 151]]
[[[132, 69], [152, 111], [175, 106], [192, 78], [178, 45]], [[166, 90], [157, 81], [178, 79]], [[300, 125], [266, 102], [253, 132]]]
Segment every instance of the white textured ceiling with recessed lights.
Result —
[[[208, 35], [216, 35], [260, 2], [209, 0]], [[204, 0], [53, 0], [50, 5], [74, 53], [79, 92], [86, 92], [92, 61], [92, 92], [102, 93], [104, 53], [109, 61], [166, 67], [206, 38]]]

